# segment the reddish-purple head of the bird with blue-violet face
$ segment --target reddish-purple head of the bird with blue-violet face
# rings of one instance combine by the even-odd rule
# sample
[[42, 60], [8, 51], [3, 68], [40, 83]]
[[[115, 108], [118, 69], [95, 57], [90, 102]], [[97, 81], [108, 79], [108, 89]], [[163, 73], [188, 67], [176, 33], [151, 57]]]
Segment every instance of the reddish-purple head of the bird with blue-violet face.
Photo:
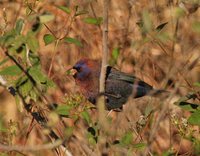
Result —
[[81, 59], [74, 66], [75, 74], [73, 77], [77, 80], [86, 80], [90, 75], [96, 73], [99, 69], [98, 61], [91, 59]]

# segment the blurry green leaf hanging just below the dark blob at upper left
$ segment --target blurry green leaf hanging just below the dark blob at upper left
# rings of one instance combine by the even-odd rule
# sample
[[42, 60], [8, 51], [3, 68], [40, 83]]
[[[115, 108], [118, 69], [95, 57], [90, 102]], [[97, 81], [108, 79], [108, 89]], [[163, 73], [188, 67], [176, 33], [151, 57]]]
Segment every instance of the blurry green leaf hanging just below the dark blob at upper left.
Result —
[[26, 39], [27, 45], [29, 49], [32, 52], [37, 52], [39, 49], [39, 42], [38, 39], [35, 37], [35, 34], [33, 32], [28, 32], [27, 39]]

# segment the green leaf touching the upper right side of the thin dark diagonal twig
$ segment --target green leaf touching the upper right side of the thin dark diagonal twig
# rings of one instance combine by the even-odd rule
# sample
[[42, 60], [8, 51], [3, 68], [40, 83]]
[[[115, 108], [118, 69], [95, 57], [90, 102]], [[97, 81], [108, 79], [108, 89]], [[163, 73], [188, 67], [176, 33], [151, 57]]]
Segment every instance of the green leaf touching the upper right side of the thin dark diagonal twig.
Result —
[[39, 67], [31, 67], [28, 71], [28, 73], [32, 76], [32, 78], [38, 83], [46, 83], [47, 78], [46, 76], [42, 73], [41, 69]]

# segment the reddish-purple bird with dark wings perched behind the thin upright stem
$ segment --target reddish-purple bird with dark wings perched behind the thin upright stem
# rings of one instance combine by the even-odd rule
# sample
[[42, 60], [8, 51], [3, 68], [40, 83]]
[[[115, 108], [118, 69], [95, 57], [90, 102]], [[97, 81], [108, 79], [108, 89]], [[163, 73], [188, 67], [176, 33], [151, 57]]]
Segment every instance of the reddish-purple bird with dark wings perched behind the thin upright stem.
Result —
[[104, 95], [108, 110], [122, 109], [129, 97], [139, 98], [165, 92], [165, 90], [154, 89], [139, 78], [108, 65], [106, 66], [105, 92], [100, 93], [101, 61], [83, 58], [77, 61], [72, 69], [75, 83], [86, 99], [95, 105], [97, 98]]

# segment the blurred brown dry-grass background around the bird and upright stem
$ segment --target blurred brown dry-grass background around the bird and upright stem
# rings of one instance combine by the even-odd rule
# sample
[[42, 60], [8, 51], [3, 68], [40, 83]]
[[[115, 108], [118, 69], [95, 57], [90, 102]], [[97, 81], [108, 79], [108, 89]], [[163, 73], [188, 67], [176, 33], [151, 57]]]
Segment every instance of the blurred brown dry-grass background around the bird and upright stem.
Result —
[[[145, 152], [147, 155], [199, 155], [199, 126], [188, 125], [190, 112], [174, 104], [200, 89], [198, 7], [199, 1], [110, 0], [109, 64], [155, 88], [168, 90], [170, 95], [130, 99], [122, 112], [110, 114], [109, 133], [101, 132], [97, 110], [88, 108], [91, 104], [79, 94], [73, 77], [66, 72], [80, 58], [101, 59], [102, 1], [2, 0], [0, 33], [4, 36], [19, 19], [24, 21], [23, 35], [37, 29], [38, 45], [33, 53], [40, 59], [42, 72], [55, 83], [44, 95], [58, 105], [76, 103], [70, 107], [69, 117], [63, 119], [67, 126], [56, 127], [58, 135], [67, 138], [66, 145], [73, 155], [95, 155], [95, 152], [100, 155], [143, 155]], [[44, 37], [47, 34], [54, 37], [50, 44]], [[30, 42], [35, 45], [36, 41]], [[4, 51], [5, 47], [1, 47], [0, 61], [6, 58]], [[9, 76], [4, 78], [13, 81]], [[198, 98], [192, 103], [198, 105]], [[37, 104], [43, 108], [42, 102]], [[49, 142], [45, 130], [3, 86], [0, 86], [0, 106], [2, 144], [34, 146]], [[51, 123], [55, 128], [60, 120], [49, 113], [50, 121], [55, 119]], [[99, 145], [100, 136], [105, 146]], [[149, 140], [151, 136], [153, 141]], [[150, 146], [149, 141], [152, 141]], [[56, 154], [50, 149], [6, 152], [0, 148], [0, 152], [2, 155]]]

